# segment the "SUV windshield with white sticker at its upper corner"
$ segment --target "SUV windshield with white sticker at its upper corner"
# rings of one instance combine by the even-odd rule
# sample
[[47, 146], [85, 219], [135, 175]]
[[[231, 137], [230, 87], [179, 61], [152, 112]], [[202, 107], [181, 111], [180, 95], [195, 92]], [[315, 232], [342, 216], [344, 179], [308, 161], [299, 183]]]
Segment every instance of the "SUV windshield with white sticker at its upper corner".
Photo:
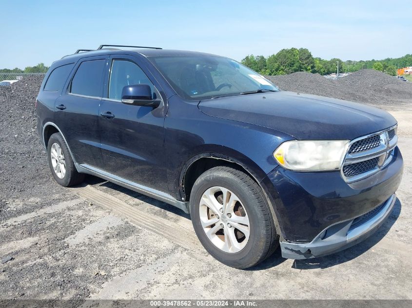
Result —
[[154, 56], [150, 60], [186, 99], [279, 91], [269, 80], [242, 64], [213, 55]]

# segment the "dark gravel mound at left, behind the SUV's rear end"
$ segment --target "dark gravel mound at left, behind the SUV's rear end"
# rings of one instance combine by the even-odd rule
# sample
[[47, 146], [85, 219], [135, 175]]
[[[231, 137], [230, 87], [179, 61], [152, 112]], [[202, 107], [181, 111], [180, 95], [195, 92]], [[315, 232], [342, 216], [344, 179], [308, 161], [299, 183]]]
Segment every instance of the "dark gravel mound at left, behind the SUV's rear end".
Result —
[[0, 191], [4, 196], [50, 181], [36, 129], [35, 104], [42, 79], [29, 76], [0, 87]]

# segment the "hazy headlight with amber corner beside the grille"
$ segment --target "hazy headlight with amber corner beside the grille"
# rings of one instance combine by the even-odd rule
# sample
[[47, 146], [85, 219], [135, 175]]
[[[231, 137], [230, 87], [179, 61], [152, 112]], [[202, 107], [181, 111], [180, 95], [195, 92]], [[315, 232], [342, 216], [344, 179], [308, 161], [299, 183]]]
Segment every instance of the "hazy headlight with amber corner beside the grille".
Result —
[[296, 171], [325, 171], [339, 169], [349, 140], [287, 141], [273, 153], [286, 169]]

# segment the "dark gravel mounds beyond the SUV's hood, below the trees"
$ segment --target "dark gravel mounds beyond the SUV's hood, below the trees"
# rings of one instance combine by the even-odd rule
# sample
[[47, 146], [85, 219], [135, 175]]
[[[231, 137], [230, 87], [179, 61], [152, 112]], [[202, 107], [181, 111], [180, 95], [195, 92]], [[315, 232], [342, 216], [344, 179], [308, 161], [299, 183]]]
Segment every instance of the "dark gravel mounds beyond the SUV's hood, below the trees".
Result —
[[334, 97], [384, 109], [412, 104], [412, 82], [375, 70], [361, 70], [337, 80], [310, 72], [266, 77], [285, 91]]

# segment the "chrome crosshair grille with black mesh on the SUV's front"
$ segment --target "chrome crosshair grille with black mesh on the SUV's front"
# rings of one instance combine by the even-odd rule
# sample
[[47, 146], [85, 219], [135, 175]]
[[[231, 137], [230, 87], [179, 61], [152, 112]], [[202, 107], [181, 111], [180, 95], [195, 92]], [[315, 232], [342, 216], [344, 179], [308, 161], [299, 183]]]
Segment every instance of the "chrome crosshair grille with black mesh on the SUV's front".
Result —
[[351, 183], [379, 172], [392, 161], [397, 142], [396, 127], [353, 140], [341, 169], [344, 180]]

